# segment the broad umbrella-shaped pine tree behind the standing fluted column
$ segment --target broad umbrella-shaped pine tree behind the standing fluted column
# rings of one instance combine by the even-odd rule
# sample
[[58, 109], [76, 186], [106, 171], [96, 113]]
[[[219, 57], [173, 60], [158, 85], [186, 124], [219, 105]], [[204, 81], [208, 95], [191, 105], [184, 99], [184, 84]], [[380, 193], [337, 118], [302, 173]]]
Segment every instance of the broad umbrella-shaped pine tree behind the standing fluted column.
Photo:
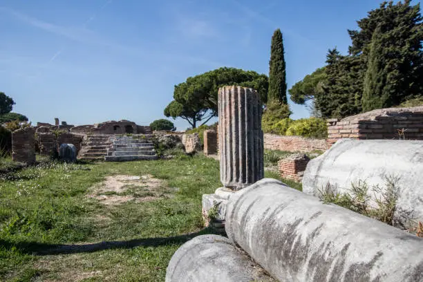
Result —
[[183, 118], [195, 129], [198, 122], [205, 124], [217, 116], [218, 88], [225, 85], [254, 88], [260, 94], [261, 101], [267, 102], [269, 83], [266, 75], [238, 68], [218, 68], [188, 77], [186, 82], [176, 85], [173, 101], [164, 109], [164, 115], [174, 119]]

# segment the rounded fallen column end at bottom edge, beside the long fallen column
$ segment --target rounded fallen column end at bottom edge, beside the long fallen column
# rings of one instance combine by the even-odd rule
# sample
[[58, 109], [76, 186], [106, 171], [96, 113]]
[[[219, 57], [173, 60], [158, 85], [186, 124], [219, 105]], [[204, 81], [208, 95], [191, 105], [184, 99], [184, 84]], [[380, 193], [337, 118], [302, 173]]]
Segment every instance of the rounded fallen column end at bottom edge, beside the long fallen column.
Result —
[[197, 236], [173, 254], [166, 282], [275, 281], [223, 236]]

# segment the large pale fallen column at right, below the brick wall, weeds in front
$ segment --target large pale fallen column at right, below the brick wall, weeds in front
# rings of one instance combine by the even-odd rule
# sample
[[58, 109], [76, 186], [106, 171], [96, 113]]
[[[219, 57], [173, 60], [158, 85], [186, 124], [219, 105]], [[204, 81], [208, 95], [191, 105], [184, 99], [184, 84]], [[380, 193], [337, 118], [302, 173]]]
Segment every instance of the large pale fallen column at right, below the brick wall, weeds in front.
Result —
[[[359, 180], [366, 181], [368, 187], [385, 188], [386, 177], [399, 177], [395, 217], [413, 212], [416, 221], [423, 221], [422, 176], [423, 141], [344, 139], [308, 163], [303, 192], [318, 196], [319, 189], [330, 185], [345, 193]], [[373, 189], [368, 190], [368, 196], [382, 197]]]

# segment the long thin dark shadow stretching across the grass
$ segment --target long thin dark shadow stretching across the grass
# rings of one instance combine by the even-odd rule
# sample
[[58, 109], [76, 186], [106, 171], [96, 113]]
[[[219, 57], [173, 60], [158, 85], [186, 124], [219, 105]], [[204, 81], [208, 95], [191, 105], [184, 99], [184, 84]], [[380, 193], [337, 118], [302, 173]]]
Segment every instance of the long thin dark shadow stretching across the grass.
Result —
[[22, 253], [32, 254], [37, 256], [55, 255], [55, 254], [77, 254], [77, 253], [89, 253], [98, 252], [102, 250], [110, 249], [131, 249], [133, 247], [158, 247], [162, 245], [170, 244], [182, 244], [192, 238], [204, 234], [216, 234], [213, 229], [205, 228], [196, 233], [184, 234], [180, 236], [172, 237], [158, 237], [158, 238], [142, 238], [133, 239], [129, 241], [106, 241], [100, 243], [90, 243], [82, 245], [66, 245], [66, 244], [47, 244], [37, 242], [20, 242], [12, 243], [0, 239], [0, 247], [10, 250], [16, 248]]

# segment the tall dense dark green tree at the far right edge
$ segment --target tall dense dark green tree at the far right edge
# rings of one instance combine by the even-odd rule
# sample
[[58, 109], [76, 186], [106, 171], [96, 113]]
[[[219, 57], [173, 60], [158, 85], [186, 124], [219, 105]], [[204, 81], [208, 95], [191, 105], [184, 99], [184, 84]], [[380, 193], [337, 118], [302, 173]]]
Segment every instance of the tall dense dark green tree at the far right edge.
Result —
[[[372, 17], [370, 17], [372, 15]], [[397, 106], [423, 94], [423, 23], [420, 4], [382, 3], [359, 21], [353, 32], [353, 51], [362, 50], [367, 71], [363, 111]], [[368, 37], [371, 34], [371, 39]]]

